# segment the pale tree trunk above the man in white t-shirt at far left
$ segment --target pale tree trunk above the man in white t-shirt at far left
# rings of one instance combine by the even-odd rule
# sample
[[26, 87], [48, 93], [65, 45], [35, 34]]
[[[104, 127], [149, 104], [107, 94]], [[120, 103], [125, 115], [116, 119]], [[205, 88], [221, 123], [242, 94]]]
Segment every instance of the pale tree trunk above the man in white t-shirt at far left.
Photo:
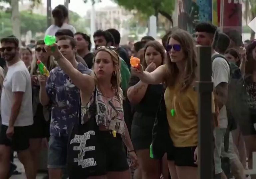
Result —
[[11, 0], [13, 34], [21, 43], [19, 0]]

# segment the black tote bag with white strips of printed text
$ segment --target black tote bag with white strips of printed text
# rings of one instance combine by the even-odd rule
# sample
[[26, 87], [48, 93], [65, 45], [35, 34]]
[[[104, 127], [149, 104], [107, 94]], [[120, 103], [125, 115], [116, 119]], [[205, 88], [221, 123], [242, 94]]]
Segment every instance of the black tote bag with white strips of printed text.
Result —
[[89, 108], [89, 119], [81, 124], [81, 99], [79, 100], [77, 123], [70, 132], [67, 146], [67, 168], [70, 179], [84, 179], [106, 174], [106, 155], [99, 139], [99, 127], [95, 120], [96, 88], [93, 104]]

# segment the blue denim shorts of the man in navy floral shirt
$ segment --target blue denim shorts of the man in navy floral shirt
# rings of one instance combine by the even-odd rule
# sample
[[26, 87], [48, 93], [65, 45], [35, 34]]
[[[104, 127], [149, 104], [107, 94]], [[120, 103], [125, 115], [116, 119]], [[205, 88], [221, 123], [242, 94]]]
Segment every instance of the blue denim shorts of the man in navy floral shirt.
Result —
[[63, 169], [67, 164], [67, 142], [68, 136], [50, 136], [48, 148], [48, 168]]

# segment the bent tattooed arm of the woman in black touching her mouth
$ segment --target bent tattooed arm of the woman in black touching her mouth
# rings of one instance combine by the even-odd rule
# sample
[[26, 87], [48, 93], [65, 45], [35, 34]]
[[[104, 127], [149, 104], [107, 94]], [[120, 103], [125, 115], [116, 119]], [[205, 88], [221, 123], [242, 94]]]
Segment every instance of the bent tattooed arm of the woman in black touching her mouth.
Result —
[[127, 90], [127, 97], [132, 104], [138, 104], [144, 97], [148, 85], [139, 81], [136, 85]]

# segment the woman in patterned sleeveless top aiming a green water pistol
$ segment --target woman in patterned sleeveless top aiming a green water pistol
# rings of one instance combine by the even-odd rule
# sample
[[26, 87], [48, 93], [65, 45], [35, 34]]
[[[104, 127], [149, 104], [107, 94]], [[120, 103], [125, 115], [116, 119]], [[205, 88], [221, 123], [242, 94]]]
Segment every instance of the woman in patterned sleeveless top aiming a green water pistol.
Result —
[[[56, 47], [57, 44], [53, 46]], [[107, 172], [103, 176], [89, 178], [130, 179], [131, 174], [122, 141], [130, 151], [135, 166], [137, 156], [124, 122], [120, 59], [117, 53], [109, 48], [99, 47], [93, 62], [94, 74], [89, 76], [77, 71], [57, 48], [54, 52], [51, 51], [51, 46], [46, 46], [45, 49], [49, 55], [55, 57], [73, 84], [80, 89], [81, 107], [85, 108], [81, 112], [82, 123], [90, 113], [89, 108], [94, 103], [93, 94], [96, 92], [97, 115], [95, 118], [100, 130], [100, 143], [104, 146], [103, 150], [107, 156], [105, 159]]]

